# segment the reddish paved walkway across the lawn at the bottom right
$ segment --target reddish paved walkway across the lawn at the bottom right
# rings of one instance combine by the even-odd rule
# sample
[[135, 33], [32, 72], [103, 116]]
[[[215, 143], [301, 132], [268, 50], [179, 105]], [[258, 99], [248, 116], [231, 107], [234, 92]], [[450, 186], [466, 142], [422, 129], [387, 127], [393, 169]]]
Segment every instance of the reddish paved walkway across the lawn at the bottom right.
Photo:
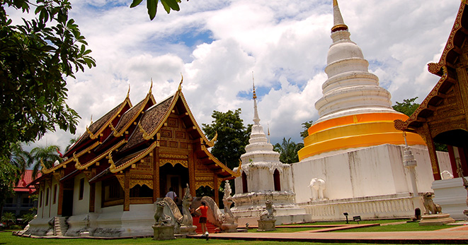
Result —
[[[203, 238], [189, 236], [193, 238]], [[468, 226], [450, 227], [431, 232], [238, 232], [210, 234], [210, 239], [255, 241], [309, 241], [367, 244], [468, 244]]]

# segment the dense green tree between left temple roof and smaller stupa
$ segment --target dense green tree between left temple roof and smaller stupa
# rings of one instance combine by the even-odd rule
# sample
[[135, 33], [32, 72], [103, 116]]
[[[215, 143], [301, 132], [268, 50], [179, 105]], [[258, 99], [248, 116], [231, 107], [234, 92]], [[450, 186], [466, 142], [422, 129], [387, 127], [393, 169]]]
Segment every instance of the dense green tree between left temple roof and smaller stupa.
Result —
[[217, 142], [212, 147], [211, 153], [217, 159], [234, 169], [239, 165], [239, 159], [244, 154], [245, 146], [249, 144], [251, 124], [244, 126], [241, 119], [241, 109], [227, 112], [213, 111], [214, 119], [211, 124], [202, 124], [202, 129], [207, 138], [211, 139], [218, 133]]

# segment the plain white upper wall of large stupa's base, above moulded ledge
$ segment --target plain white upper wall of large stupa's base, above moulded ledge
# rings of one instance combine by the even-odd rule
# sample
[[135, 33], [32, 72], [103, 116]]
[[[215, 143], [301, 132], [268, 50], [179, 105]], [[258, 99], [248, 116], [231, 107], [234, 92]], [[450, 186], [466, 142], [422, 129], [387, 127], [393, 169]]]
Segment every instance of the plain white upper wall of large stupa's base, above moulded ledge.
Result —
[[[423, 146], [411, 150], [418, 162], [418, 192], [432, 191], [433, 174], [428, 151]], [[438, 155], [440, 171], [450, 167], [448, 154]], [[310, 157], [292, 165], [292, 176], [296, 203], [310, 201], [309, 182], [312, 178], [326, 181], [324, 198], [330, 200], [412, 192], [409, 170], [403, 166], [401, 145], [377, 145], [322, 158]]]

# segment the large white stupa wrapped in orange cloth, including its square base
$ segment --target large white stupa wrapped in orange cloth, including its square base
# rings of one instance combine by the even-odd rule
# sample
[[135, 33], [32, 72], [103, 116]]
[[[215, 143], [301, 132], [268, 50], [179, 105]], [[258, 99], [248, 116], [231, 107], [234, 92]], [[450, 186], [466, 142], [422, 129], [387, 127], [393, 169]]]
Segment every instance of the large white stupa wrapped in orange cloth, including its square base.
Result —
[[[333, 0], [333, 41], [327, 56], [319, 119], [308, 129], [299, 162], [292, 164], [296, 201], [314, 220], [404, 217], [418, 207], [418, 194], [433, 181], [426, 145], [416, 133], [406, 139], [417, 160], [404, 167], [405, 140], [394, 120], [408, 116], [392, 109], [390, 93], [367, 70], [369, 63]], [[310, 189], [324, 186], [323, 197]], [[314, 187], [314, 186], [312, 186]], [[323, 189], [323, 188], [322, 188]], [[421, 207], [419, 207], [421, 208]]]

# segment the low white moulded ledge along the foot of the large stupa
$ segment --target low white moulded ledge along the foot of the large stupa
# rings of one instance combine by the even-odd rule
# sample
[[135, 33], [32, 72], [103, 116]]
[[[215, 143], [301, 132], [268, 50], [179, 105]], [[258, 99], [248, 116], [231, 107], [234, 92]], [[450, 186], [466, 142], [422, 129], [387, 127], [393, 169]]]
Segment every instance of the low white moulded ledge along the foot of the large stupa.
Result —
[[389, 195], [312, 201], [299, 205], [312, 215], [312, 220], [344, 220], [343, 213], [348, 213], [352, 220], [357, 215], [363, 219], [412, 217], [416, 208], [413, 203], [411, 195]]

